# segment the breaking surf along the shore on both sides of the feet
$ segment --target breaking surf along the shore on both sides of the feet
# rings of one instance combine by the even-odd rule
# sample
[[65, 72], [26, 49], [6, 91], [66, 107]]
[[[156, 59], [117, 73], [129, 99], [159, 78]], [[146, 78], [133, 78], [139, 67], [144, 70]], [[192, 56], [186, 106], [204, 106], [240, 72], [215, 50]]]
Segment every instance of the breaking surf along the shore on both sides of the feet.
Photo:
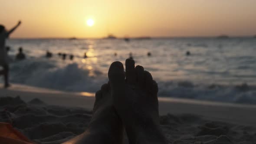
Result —
[[[62, 60], [61, 60], [62, 61]], [[29, 58], [10, 65], [10, 81], [24, 85], [71, 92], [96, 92], [108, 82], [106, 72], [84, 69], [76, 62]], [[93, 75], [92, 75], [93, 73]], [[191, 81], [158, 80], [159, 96], [256, 104], [256, 86], [198, 84]]]

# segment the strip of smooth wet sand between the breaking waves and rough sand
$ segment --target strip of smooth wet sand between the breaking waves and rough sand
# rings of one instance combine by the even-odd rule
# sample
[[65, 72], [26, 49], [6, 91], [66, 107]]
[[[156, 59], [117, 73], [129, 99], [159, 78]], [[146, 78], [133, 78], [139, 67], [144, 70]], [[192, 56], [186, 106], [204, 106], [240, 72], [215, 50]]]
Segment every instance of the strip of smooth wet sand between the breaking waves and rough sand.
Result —
[[[92, 110], [95, 97], [88, 92], [62, 92], [46, 88], [12, 84], [8, 89], [0, 89], [0, 97], [20, 96], [24, 101], [39, 98], [49, 105], [79, 107]], [[242, 105], [215, 101], [200, 101], [181, 98], [158, 97], [159, 114], [191, 114], [216, 121], [256, 126], [256, 105]]]

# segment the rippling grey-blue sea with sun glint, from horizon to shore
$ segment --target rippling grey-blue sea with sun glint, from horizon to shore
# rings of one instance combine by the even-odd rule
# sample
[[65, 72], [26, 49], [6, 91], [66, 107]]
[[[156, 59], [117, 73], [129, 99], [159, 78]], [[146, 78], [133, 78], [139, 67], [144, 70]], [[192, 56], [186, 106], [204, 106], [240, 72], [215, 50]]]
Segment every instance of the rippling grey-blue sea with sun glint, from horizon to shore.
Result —
[[[10, 81], [72, 92], [96, 92], [114, 61], [132, 52], [158, 82], [159, 96], [256, 104], [256, 39], [9, 39], [10, 59], [22, 46], [27, 59], [10, 64]], [[46, 50], [53, 58], [46, 59]], [[190, 51], [191, 55], [186, 56]], [[57, 53], [65, 52], [62, 60]], [[83, 59], [87, 52], [86, 59]], [[117, 56], [114, 56], [114, 53]], [[151, 52], [151, 56], [147, 53]], [[69, 54], [74, 59], [69, 60]], [[1, 80], [2, 82], [2, 80]]]

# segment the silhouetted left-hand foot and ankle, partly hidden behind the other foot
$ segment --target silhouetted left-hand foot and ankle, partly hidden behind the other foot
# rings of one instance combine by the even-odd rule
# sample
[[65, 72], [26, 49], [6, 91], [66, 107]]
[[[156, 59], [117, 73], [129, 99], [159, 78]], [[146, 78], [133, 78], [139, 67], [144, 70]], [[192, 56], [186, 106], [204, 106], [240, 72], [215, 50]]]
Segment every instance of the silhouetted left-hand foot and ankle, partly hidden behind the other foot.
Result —
[[96, 92], [93, 115], [88, 129], [64, 144], [121, 144], [123, 127], [113, 107], [108, 84]]

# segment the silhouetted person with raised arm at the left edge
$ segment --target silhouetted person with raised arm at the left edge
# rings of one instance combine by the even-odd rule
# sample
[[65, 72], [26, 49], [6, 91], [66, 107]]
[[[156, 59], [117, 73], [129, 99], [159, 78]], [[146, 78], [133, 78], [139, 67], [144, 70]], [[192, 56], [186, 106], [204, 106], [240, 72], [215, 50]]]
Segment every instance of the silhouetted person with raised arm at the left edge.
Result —
[[13, 31], [20, 26], [21, 21], [19, 21], [16, 26], [7, 31], [3, 25], [0, 25], [0, 66], [3, 70], [0, 70], [0, 75], [4, 76], [4, 87], [8, 88], [9, 84], [9, 62], [7, 49], [5, 48], [5, 39], [7, 39]]

